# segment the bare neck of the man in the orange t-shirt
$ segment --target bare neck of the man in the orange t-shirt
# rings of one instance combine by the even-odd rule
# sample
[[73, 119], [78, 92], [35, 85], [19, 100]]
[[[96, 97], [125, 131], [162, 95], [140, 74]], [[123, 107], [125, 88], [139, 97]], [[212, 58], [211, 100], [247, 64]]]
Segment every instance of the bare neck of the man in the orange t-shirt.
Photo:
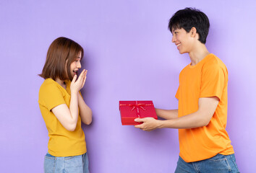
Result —
[[210, 53], [208, 52], [206, 46], [202, 43], [199, 43], [194, 47], [194, 49], [189, 52], [189, 57], [191, 60], [191, 66], [195, 66], [197, 63], [202, 61], [205, 56], [208, 56]]

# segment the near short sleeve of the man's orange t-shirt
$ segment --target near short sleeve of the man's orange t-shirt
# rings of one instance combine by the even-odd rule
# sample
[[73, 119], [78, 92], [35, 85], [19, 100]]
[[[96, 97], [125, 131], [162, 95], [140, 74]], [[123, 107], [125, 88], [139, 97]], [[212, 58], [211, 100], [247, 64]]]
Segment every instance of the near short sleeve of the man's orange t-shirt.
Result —
[[218, 97], [221, 99], [226, 84], [225, 73], [218, 63], [202, 70], [200, 97]]

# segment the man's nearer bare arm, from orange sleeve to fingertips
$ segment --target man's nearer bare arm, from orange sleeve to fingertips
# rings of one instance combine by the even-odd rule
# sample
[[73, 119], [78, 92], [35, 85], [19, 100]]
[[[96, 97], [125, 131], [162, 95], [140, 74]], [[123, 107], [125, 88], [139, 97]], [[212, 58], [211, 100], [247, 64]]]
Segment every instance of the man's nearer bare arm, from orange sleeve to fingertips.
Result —
[[147, 131], [155, 130], [155, 128], [200, 128], [208, 125], [218, 106], [218, 102], [218, 97], [200, 98], [197, 112], [171, 120], [155, 120], [151, 117], [137, 118], [135, 119], [137, 122], [143, 123], [135, 125], [135, 128]]

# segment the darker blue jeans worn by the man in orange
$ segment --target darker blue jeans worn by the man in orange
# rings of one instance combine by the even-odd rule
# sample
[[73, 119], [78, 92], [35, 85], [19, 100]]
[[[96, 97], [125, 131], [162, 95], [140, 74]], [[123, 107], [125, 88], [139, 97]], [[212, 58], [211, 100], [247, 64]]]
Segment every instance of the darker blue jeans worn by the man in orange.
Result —
[[223, 173], [223, 172], [239, 172], [236, 166], [236, 158], [234, 154], [222, 155], [217, 154], [210, 159], [187, 163], [181, 157], [177, 163], [175, 173]]

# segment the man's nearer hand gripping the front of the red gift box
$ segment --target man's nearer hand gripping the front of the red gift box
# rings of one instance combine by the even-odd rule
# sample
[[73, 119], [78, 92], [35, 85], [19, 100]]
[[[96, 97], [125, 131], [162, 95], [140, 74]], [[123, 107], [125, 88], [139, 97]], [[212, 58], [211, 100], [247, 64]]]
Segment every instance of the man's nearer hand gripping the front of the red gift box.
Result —
[[155, 120], [153, 117], [145, 117], [145, 118], [136, 118], [136, 122], [142, 122], [140, 125], [135, 125], [135, 128], [140, 128], [141, 130], [151, 131], [158, 128], [158, 120]]

